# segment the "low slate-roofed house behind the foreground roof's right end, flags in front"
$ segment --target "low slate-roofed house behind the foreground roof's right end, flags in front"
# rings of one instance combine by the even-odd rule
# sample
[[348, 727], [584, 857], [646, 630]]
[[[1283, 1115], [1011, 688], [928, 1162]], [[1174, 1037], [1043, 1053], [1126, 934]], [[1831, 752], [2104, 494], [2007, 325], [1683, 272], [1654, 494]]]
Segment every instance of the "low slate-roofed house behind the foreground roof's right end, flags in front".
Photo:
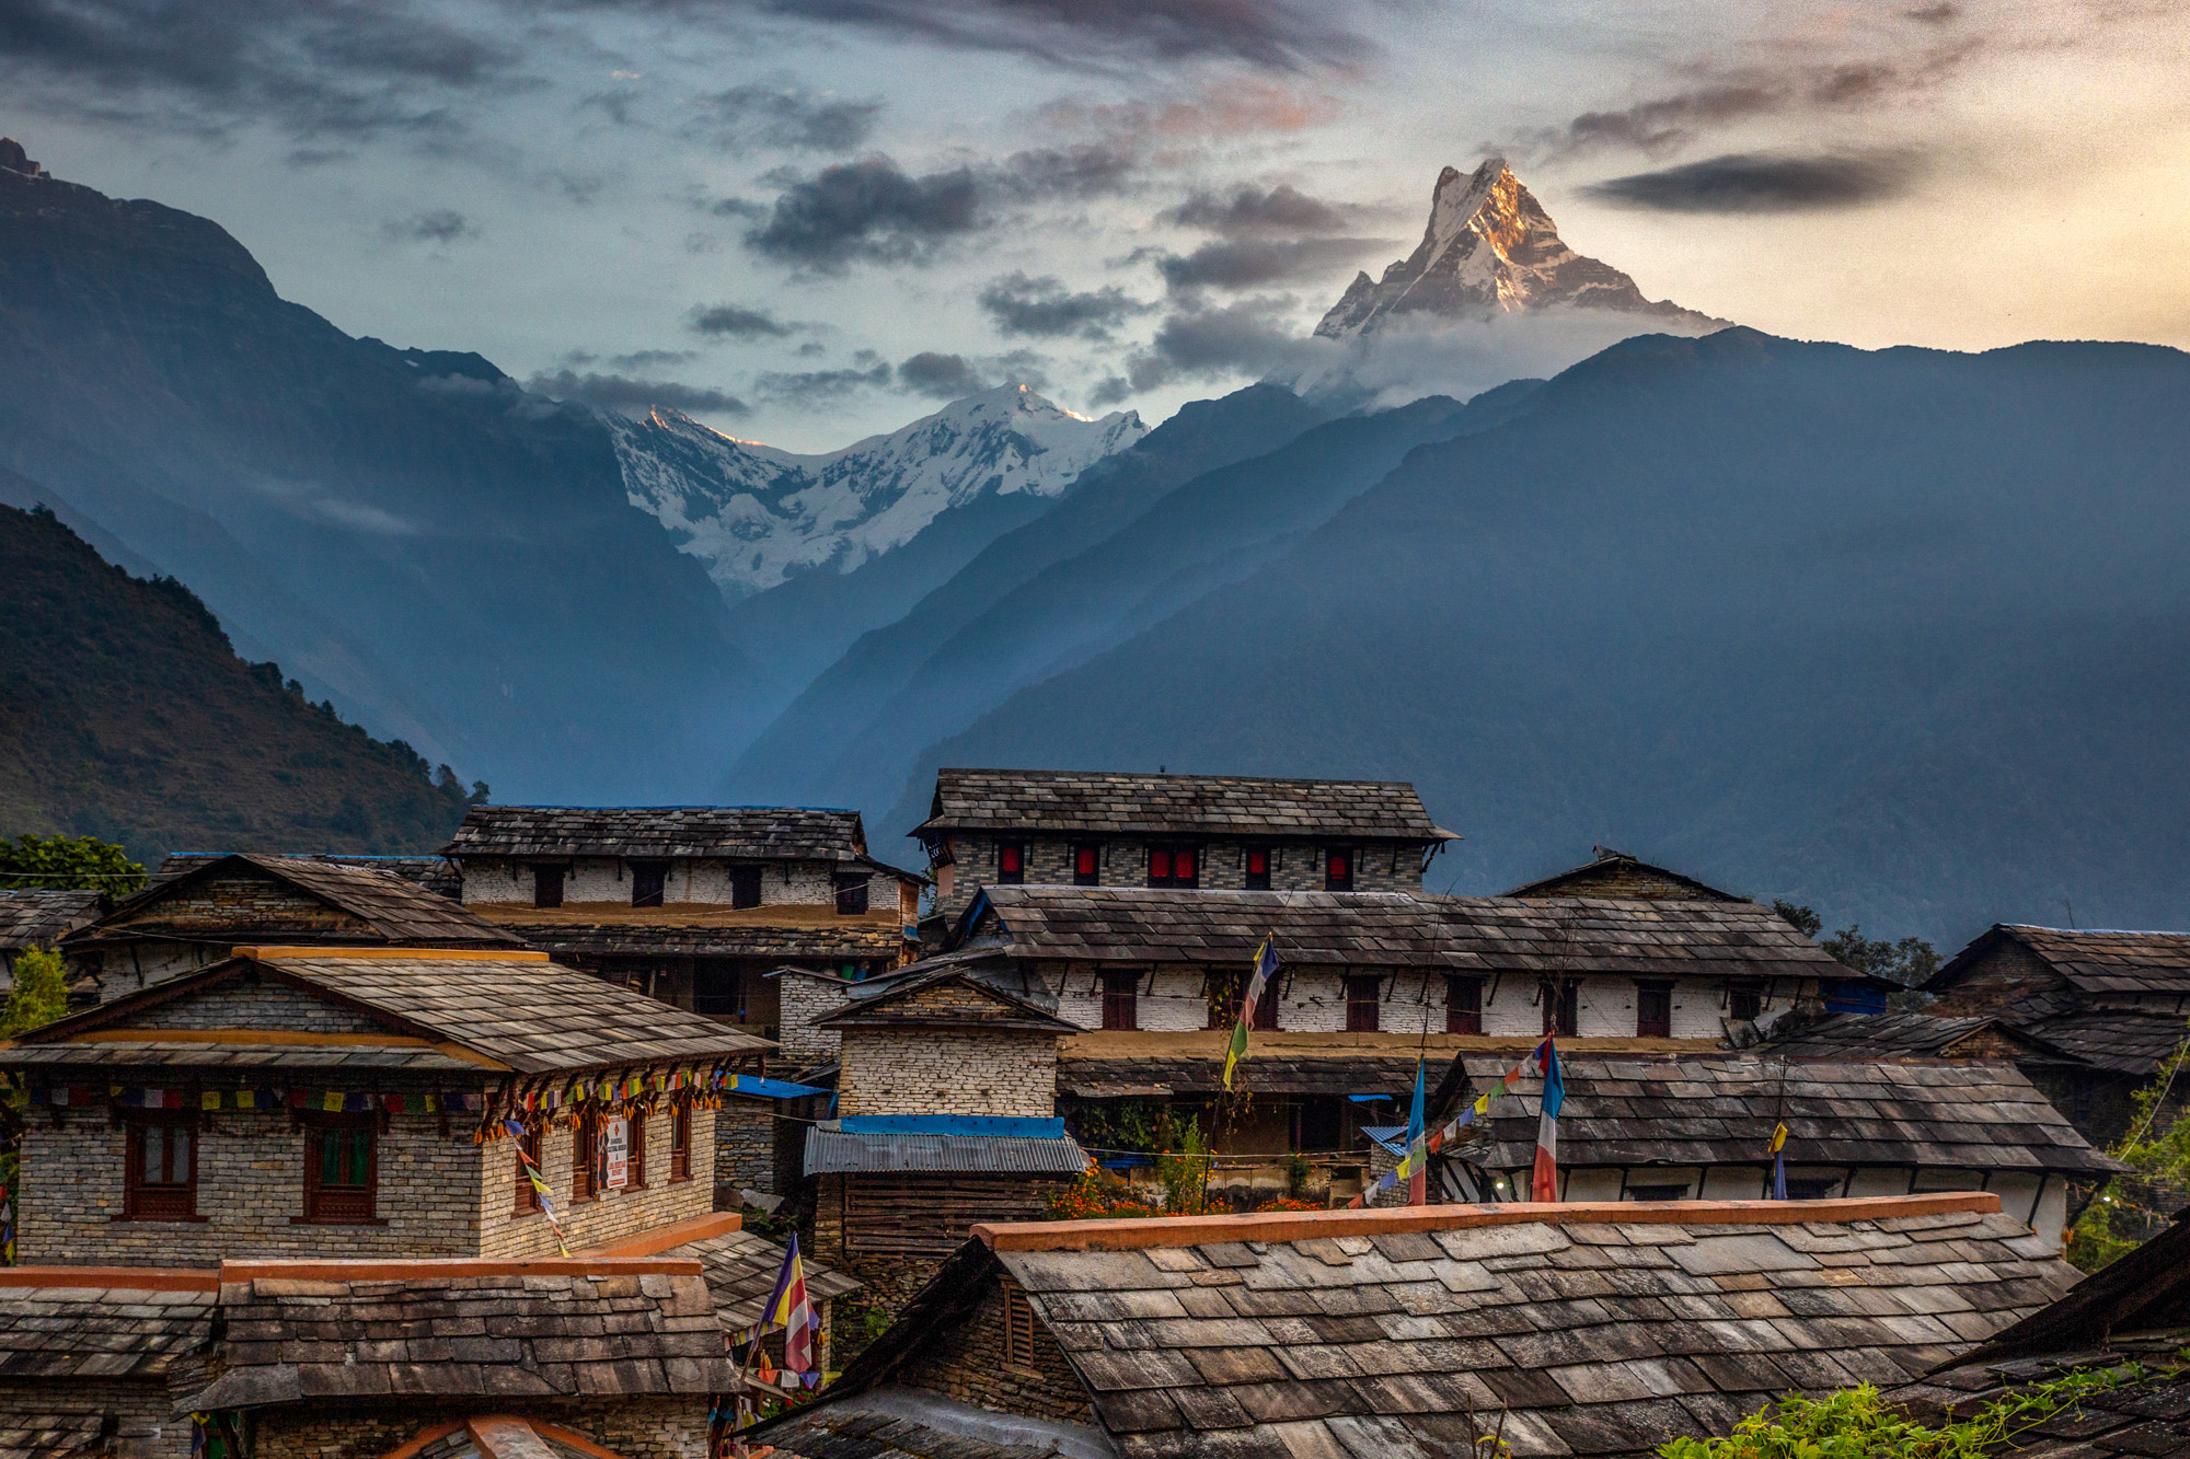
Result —
[[[1772, 1130], [1787, 1126], [1794, 1200], [1984, 1190], [2059, 1247], [2072, 1187], [2122, 1165], [2089, 1144], [2015, 1065], [1818, 1060], [1750, 1054], [1561, 1054], [1561, 1200], [1763, 1200]], [[1448, 1117], [1489, 1113], [1448, 1144], [1450, 1200], [1526, 1200], [1542, 1084], [1498, 1095], [1511, 1060], [1463, 1056], [1439, 1091]]]

